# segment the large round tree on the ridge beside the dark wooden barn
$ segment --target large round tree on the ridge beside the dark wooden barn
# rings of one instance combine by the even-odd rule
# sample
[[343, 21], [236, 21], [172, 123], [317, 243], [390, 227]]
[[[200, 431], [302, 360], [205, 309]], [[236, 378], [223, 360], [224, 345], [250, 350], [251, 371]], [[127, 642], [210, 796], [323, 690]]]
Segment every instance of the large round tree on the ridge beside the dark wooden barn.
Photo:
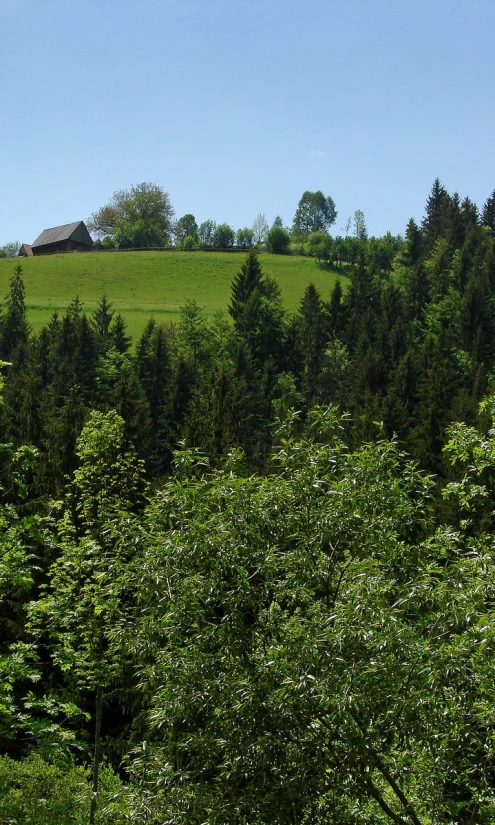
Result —
[[139, 183], [114, 192], [110, 203], [88, 219], [88, 229], [96, 237], [108, 235], [122, 248], [166, 246], [173, 217], [168, 193], [154, 183]]

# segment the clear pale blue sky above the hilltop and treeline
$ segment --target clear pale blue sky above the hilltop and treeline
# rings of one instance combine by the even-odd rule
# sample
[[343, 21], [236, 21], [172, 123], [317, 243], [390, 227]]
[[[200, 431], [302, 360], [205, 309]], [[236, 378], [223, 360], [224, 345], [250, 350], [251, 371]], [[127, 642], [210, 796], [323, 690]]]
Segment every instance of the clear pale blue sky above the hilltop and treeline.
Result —
[[0, 0], [0, 245], [163, 186], [177, 217], [335, 233], [495, 188], [494, 0]]

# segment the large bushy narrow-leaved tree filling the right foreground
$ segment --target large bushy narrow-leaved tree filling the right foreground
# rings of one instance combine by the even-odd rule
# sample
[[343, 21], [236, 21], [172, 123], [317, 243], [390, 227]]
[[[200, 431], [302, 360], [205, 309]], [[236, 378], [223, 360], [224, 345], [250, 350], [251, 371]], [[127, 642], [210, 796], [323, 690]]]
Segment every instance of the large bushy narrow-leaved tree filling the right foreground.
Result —
[[437, 527], [397, 446], [341, 426], [282, 427], [267, 478], [179, 453], [153, 501], [119, 630], [143, 818], [492, 820], [493, 540]]

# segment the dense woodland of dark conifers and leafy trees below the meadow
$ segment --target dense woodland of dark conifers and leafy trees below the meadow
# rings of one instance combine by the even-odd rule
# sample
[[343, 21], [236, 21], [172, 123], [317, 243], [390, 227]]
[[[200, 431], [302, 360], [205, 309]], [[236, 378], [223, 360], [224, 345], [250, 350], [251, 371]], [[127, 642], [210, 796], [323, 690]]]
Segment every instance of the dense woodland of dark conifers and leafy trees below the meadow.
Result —
[[495, 820], [495, 193], [323, 235], [136, 342], [13, 266], [0, 821]]

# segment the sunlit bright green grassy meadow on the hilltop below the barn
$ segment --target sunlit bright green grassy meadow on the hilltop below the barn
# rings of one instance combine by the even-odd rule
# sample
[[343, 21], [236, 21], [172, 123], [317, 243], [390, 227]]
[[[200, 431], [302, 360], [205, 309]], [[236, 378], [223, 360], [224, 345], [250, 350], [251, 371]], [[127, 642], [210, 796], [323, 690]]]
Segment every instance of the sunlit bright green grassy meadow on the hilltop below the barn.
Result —
[[[263, 271], [274, 277], [289, 310], [299, 305], [305, 287], [313, 282], [328, 300], [336, 270], [318, 266], [312, 258], [260, 254]], [[213, 314], [227, 308], [232, 279], [244, 254], [239, 252], [101, 252], [47, 255], [0, 260], [0, 296], [8, 293], [17, 263], [23, 268], [28, 319], [34, 331], [53, 312], [63, 313], [79, 296], [91, 312], [103, 294], [125, 317], [136, 337], [153, 315], [159, 321], [177, 321], [187, 298], [194, 298]], [[343, 286], [345, 288], [345, 277]]]

